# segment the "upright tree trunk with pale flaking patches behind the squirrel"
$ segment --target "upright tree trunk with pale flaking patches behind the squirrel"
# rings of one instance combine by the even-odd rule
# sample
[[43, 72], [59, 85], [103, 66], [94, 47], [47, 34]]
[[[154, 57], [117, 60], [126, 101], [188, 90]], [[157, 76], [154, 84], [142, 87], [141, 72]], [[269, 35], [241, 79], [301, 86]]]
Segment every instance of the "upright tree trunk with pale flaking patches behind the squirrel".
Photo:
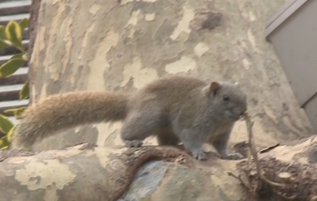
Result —
[[[30, 61], [32, 100], [66, 91], [134, 91], [165, 74], [238, 81], [260, 146], [312, 133], [264, 39], [284, 0], [44, 0]], [[80, 13], [80, 14], [79, 14]], [[120, 123], [70, 129], [37, 146], [123, 145]], [[231, 145], [246, 139], [239, 122]], [[148, 145], [156, 141], [149, 139]], [[209, 148], [206, 148], [209, 149]]]

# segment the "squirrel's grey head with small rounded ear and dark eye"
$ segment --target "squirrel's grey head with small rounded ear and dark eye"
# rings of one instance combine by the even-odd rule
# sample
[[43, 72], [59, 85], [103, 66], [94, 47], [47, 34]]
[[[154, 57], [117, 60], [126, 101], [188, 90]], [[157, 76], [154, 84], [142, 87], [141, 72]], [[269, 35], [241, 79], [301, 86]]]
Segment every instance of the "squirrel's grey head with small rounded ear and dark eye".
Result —
[[212, 112], [220, 119], [237, 121], [247, 111], [247, 97], [238, 84], [211, 82], [207, 96]]

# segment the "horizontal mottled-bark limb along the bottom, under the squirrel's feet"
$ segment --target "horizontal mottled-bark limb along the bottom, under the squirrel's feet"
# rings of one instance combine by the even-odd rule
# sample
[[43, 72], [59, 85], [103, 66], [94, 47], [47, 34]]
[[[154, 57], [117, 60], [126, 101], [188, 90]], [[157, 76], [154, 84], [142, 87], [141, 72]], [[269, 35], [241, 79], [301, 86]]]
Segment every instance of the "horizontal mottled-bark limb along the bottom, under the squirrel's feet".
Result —
[[[259, 154], [264, 176], [285, 185], [273, 190], [258, 183], [254, 162], [222, 160], [212, 153], [207, 161], [198, 161], [176, 148], [152, 146], [83, 144], [11, 157], [3, 156], [7, 153], [3, 151], [1, 201], [113, 201], [122, 194], [118, 201], [254, 201], [258, 196], [269, 201], [278, 192], [310, 201], [317, 196], [316, 144], [317, 138], [310, 138]], [[254, 194], [228, 172], [240, 173], [245, 181], [248, 178]]]

